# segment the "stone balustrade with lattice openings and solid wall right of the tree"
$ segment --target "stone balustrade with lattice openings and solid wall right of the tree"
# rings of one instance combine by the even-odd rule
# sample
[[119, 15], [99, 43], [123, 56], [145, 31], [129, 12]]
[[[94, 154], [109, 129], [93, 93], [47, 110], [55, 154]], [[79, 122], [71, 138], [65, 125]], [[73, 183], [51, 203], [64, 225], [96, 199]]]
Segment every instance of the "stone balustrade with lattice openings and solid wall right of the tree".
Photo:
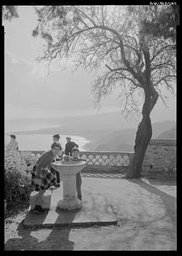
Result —
[[[35, 159], [43, 154], [43, 151], [21, 151], [22, 154], [31, 154]], [[82, 172], [126, 172], [130, 165], [134, 152], [120, 151], [80, 151], [80, 157], [88, 160]], [[149, 143], [143, 171], [170, 170], [176, 168], [176, 140], [152, 139]]]

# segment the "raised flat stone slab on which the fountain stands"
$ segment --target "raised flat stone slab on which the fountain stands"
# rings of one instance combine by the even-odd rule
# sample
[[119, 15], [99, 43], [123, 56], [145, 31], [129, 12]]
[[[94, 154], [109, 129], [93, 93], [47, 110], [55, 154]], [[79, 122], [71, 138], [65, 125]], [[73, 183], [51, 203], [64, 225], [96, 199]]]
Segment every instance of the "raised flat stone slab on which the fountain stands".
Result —
[[94, 194], [82, 189], [82, 209], [60, 210], [57, 203], [62, 199], [62, 187], [54, 189], [51, 196], [50, 210], [43, 214], [29, 211], [24, 226], [45, 228], [53, 226], [92, 226], [94, 224], [117, 224], [117, 217], [104, 195]]

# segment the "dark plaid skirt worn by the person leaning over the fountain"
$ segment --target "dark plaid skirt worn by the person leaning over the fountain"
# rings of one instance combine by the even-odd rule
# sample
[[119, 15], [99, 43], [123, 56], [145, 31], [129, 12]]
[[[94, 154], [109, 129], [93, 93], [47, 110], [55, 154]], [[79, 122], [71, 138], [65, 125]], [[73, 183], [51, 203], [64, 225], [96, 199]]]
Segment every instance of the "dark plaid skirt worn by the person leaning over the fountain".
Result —
[[36, 166], [31, 171], [31, 184], [35, 185], [35, 190], [48, 189], [56, 183], [56, 177], [48, 168], [42, 168], [40, 177], [36, 177]]

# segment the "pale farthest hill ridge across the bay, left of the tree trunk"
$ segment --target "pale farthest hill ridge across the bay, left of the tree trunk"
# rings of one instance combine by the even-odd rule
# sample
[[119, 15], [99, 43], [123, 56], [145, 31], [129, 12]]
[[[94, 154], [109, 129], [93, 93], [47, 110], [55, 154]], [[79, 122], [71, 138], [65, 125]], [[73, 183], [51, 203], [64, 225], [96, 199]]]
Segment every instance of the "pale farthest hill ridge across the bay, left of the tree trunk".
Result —
[[[40, 126], [39, 129], [31, 127]], [[44, 125], [44, 127], [43, 127]], [[51, 127], [52, 125], [52, 127]], [[82, 134], [94, 133], [97, 131], [113, 131], [126, 128], [134, 128], [136, 121], [126, 120], [122, 114], [100, 113], [87, 116], [63, 117], [60, 119], [14, 119], [6, 120], [6, 131], [14, 134]], [[18, 126], [20, 126], [18, 130]], [[23, 126], [26, 129], [23, 129]], [[13, 130], [15, 127], [15, 130]], [[43, 127], [43, 128], [42, 128]], [[47, 128], [48, 127], [48, 128]], [[86, 132], [85, 132], [86, 131]]]

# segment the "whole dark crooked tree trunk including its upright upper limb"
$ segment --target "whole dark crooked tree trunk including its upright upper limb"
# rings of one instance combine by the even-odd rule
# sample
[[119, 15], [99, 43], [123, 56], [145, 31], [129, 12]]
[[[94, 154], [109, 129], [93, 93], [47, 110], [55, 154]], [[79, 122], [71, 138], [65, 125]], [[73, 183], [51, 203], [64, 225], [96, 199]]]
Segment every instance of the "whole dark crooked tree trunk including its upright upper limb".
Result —
[[141, 79], [139, 84], [145, 92], [145, 102], [142, 108], [142, 120], [139, 123], [135, 145], [134, 145], [134, 159], [129, 166], [129, 172], [127, 177], [140, 177], [142, 172], [143, 160], [145, 157], [146, 148], [151, 140], [152, 128], [151, 128], [151, 110], [154, 108], [158, 99], [158, 93], [154, 88], [151, 80], [151, 58], [148, 44], [145, 42], [145, 34], [141, 33], [139, 38], [139, 44], [142, 49], [145, 58], [145, 71], [141, 73]]

